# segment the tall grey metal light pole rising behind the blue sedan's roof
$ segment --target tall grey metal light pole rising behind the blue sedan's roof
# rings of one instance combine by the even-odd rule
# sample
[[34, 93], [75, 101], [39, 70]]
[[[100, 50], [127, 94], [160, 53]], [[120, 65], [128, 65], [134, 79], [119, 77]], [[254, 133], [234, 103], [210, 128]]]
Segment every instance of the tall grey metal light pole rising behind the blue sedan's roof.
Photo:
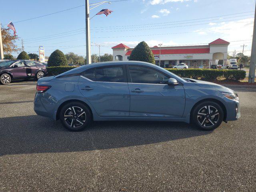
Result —
[[92, 63], [92, 58], [91, 58], [90, 5], [89, 5], [89, 0], [85, 0], [85, 18], [86, 18], [86, 64], [91, 64]]

